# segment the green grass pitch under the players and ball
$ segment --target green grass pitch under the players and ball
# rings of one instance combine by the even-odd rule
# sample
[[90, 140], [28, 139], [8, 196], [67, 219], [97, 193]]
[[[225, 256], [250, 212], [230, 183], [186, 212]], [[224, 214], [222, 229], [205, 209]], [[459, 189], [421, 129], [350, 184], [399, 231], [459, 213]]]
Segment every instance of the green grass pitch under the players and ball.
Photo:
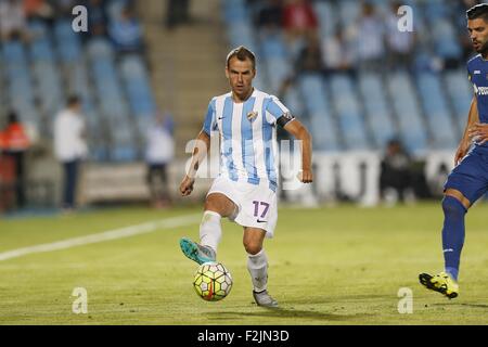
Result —
[[[97, 234], [200, 208], [119, 208], [72, 216], [0, 220], [0, 254]], [[466, 218], [460, 296], [423, 288], [420, 272], [442, 268], [439, 203], [394, 208], [282, 207], [267, 240], [269, 290], [280, 309], [253, 304], [242, 229], [223, 222], [218, 259], [232, 272], [230, 295], [207, 303], [192, 287], [196, 264], [180, 252], [198, 221], [126, 239], [28, 254], [0, 261], [0, 324], [487, 324], [488, 205]], [[75, 287], [88, 313], [72, 311]], [[413, 312], [400, 314], [400, 288]]]

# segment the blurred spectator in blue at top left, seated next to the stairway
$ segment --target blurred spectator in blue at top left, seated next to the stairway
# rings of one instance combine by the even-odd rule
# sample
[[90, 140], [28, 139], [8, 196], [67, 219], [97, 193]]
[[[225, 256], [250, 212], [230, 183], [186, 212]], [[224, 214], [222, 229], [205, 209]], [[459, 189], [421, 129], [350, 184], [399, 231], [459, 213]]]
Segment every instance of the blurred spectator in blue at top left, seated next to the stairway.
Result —
[[120, 17], [108, 25], [108, 35], [118, 53], [142, 53], [142, 27], [130, 5], [124, 7]]

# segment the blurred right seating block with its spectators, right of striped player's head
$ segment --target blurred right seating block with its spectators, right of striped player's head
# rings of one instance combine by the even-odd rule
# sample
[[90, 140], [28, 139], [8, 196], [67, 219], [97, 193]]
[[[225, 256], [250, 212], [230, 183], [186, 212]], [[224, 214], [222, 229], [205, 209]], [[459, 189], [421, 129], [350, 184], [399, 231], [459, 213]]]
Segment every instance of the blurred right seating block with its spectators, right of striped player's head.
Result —
[[[457, 146], [472, 99], [465, 11], [476, 1], [223, 3], [231, 44], [256, 50], [260, 85], [304, 117], [317, 150], [381, 150], [391, 138], [416, 155]], [[412, 33], [398, 28], [401, 5]]]

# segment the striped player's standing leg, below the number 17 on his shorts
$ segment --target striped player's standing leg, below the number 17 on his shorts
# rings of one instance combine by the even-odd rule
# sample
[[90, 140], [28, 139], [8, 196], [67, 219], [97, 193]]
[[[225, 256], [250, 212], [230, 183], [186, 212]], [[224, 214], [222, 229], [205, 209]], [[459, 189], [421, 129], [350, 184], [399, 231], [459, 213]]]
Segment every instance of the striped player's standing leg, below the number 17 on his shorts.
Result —
[[266, 231], [244, 227], [243, 244], [247, 252], [247, 270], [253, 281], [253, 296], [257, 305], [277, 307], [278, 301], [268, 293], [268, 257], [262, 244]]

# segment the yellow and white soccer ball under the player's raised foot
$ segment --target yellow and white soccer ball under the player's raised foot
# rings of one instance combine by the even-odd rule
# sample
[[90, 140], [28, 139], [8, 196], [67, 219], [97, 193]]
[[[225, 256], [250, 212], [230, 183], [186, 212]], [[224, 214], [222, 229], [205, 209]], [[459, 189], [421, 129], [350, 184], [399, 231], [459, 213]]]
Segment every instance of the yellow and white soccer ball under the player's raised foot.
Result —
[[229, 295], [232, 277], [222, 264], [204, 262], [196, 269], [193, 288], [204, 300], [218, 301]]

